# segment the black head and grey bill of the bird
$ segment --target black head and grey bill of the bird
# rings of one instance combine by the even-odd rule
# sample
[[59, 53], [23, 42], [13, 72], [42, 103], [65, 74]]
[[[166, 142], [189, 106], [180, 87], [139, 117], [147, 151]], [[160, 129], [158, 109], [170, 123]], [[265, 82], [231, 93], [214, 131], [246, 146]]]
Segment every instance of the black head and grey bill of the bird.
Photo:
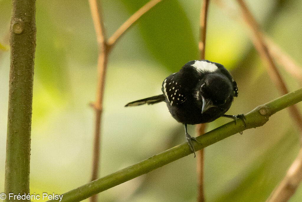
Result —
[[234, 87], [230, 79], [216, 73], [206, 74], [195, 89], [195, 97], [200, 105], [201, 113], [210, 108], [229, 109], [233, 96]]

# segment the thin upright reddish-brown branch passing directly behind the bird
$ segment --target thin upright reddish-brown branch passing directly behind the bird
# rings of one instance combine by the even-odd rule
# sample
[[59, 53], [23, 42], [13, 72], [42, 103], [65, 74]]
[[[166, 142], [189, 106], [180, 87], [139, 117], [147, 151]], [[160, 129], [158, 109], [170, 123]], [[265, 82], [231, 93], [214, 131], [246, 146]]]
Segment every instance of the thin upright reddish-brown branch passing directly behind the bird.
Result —
[[[210, 0], [204, 0], [201, 4], [200, 21], [199, 21], [199, 59], [205, 59], [205, 46], [206, 46], [206, 32], [207, 32], [207, 13]], [[197, 134], [203, 135], [205, 133], [206, 124], [196, 125]], [[200, 154], [197, 157], [197, 173], [198, 173], [198, 202], [205, 201], [204, 197], [204, 149], [200, 150]]]

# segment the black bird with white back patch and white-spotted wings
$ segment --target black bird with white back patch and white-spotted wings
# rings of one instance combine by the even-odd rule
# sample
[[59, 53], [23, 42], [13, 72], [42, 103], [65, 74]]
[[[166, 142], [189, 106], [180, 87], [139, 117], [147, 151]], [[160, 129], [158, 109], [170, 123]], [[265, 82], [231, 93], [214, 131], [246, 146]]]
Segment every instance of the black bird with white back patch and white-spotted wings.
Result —
[[187, 124], [208, 123], [220, 116], [233, 118], [235, 121], [240, 117], [245, 124], [243, 114], [224, 114], [230, 109], [233, 97], [237, 96], [236, 81], [222, 64], [209, 60], [192, 60], [178, 72], [165, 78], [162, 94], [133, 101], [125, 107], [165, 102], [172, 117], [184, 124], [185, 138], [195, 157], [191, 140], [197, 140], [188, 134]]

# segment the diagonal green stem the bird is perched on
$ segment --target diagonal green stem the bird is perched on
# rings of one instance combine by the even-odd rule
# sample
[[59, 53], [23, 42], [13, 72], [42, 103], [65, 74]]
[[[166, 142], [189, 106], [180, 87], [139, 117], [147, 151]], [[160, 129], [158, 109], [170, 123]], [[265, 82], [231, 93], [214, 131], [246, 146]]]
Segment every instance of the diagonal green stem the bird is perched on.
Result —
[[[258, 106], [245, 115], [246, 128], [244, 127], [243, 121], [241, 119], [237, 120], [237, 124], [235, 124], [235, 121], [226, 123], [210, 132], [205, 133], [204, 135], [198, 136], [197, 139], [199, 142], [201, 142], [201, 145], [194, 142], [195, 151], [212, 145], [243, 130], [262, 126], [274, 113], [288, 106], [294, 105], [300, 101], [302, 101], [302, 88], [279, 97], [264, 105]], [[118, 184], [146, 174], [150, 171], [155, 170], [156, 168], [162, 167], [189, 154], [191, 154], [191, 151], [188, 147], [188, 144], [183, 143], [160, 154], [145, 159], [137, 164], [131, 165], [120, 171], [109, 174], [103, 178], [97, 179], [81, 187], [73, 189], [63, 194], [61, 201], [76, 202], [84, 200], [94, 194], [100, 193]], [[49, 200], [48, 202], [50, 201], [56, 200]]]

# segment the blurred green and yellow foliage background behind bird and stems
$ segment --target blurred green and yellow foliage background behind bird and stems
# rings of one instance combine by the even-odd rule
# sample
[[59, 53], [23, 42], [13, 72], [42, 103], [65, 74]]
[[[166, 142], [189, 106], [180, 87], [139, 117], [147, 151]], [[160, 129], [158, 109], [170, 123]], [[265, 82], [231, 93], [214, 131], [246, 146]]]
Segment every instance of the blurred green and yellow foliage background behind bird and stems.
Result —
[[[102, 1], [107, 36], [147, 1]], [[236, 2], [224, 1], [236, 11]], [[302, 64], [300, 0], [248, 0], [276, 44]], [[161, 93], [162, 80], [198, 59], [199, 12], [195, 0], [163, 1], [121, 38], [109, 57], [102, 118], [101, 176], [185, 141], [183, 127], [164, 103], [124, 108]], [[0, 0], [0, 43], [9, 44], [11, 1]], [[90, 179], [98, 47], [88, 1], [37, 1], [37, 48], [31, 140], [31, 193], [62, 194]], [[236, 21], [211, 2], [206, 59], [224, 64], [239, 86], [228, 114], [246, 113], [277, 98], [276, 87]], [[299, 87], [279, 68], [290, 91]], [[9, 51], [0, 50], [0, 192], [4, 190]], [[299, 104], [299, 109], [302, 105]], [[301, 111], [301, 110], [300, 110]], [[214, 129], [230, 120], [208, 124]], [[189, 132], [195, 134], [194, 126]], [[208, 201], [265, 201], [297, 155], [299, 134], [287, 110], [263, 127], [205, 149]], [[196, 159], [189, 155], [99, 194], [101, 201], [195, 201]], [[300, 201], [302, 187], [290, 201]], [[38, 200], [37, 200], [38, 201]], [[43, 200], [39, 200], [43, 201]]]

